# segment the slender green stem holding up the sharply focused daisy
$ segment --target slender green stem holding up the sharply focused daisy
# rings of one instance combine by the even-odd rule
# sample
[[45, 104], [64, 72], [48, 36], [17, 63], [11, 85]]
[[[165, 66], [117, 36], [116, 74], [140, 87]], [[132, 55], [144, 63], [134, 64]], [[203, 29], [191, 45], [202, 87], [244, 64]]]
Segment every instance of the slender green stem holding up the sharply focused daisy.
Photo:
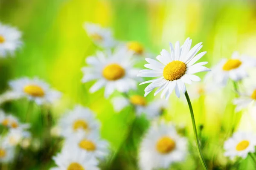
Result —
[[190, 99], [189, 99], [189, 94], [188, 94], [187, 91], [185, 92], [185, 96], [186, 96], [186, 100], [187, 100], [188, 105], [189, 105], [189, 111], [190, 111], [190, 114], [191, 114], [193, 130], [194, 130], [194, 134], [195, 134], [195, 138], [196, 138], [196, 149], [198, 151], [199, 158], [200, 158], [200, 161], [201, 161], [201, 163], [204, 167], [204, 170], [207, 170], [207, 166], [205, 164], [205, 161], [204, 161], [204, 158], [203, 158], [203, 155], [202, 155], [202, 151], [201, 151], [201, 148], [200, 148], [200, 144], [199, 144], [199, 139], [198, 139], [198, 133], [197, 133], [197, 130], [196, 130], [196, 125], [195, 125], [195, 117], [194, 117], [193, 108], [192, 108], [192, 105], [191, 105], [191, 102], [190, 102]]

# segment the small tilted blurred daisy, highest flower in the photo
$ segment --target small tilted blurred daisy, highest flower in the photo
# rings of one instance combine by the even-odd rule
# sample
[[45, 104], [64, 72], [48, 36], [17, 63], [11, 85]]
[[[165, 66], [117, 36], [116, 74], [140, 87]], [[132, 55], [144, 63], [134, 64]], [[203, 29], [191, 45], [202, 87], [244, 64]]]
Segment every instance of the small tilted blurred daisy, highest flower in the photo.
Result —
[[84, 29], [96, 45], [103, 48], [112, 48], [116, 45], [109, 28], [102, 28], [99, 24], [84, 23]]

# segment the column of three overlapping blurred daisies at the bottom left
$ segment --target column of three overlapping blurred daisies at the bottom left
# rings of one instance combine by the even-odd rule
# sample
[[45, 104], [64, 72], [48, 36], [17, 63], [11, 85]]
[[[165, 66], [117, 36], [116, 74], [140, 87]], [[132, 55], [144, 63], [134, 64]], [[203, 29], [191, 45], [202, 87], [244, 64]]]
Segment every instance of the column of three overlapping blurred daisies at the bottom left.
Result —
[[64, 137], [61, 153], [53, 159], [51, 170], [99, 170], [99, 161], [109, 154], [109, 144], [100, 137], [100, 123], [89, 108], [76, 105], [58, 122]]

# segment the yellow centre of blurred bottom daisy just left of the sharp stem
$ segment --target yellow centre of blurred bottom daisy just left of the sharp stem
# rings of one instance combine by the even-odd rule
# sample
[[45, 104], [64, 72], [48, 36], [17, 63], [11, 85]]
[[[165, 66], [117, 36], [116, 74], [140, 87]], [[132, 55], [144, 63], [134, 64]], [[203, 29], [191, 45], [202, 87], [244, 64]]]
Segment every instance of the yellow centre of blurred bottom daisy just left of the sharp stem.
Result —
[[156, 148], [159, 153], [166, 154], [174, 150], [175, 146], [176, 144], [173, 139], [164, 136], [158, 140]]

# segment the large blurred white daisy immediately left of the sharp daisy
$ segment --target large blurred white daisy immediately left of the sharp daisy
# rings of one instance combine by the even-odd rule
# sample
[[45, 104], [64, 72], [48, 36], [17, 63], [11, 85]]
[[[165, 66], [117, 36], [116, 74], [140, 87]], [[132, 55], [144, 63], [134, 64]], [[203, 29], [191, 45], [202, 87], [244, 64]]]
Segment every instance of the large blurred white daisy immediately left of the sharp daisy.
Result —
[[105, 86], [105, 97], [110, 96], [115, 89], [122, 93], [135, 90], [138, 70], [133, 68], [132, 55], [133, 52], [126, 48], [119, 48], [113, 54], [97, 52], [96, 57], [87, 57], [86, 62], [90, 66], [82, 68], [82, 82], [97, 79], [90, 92], [93, 93]]

